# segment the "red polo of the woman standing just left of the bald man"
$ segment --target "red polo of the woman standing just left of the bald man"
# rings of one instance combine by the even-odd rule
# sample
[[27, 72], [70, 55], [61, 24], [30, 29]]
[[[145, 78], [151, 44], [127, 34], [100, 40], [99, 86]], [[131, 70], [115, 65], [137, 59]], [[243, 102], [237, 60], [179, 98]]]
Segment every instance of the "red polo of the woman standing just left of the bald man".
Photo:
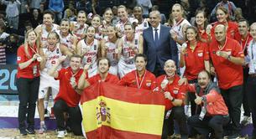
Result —
[[185, 59], [185, 77], [188, 80], [197, 79], [197, 75], [201, 70], [205, 69], [205, 60], [209, 60], [209, 48], [208, 44], [197, 42], [196, 48], [193, 50], [190, 47], [190, 43], [187, 44]]

